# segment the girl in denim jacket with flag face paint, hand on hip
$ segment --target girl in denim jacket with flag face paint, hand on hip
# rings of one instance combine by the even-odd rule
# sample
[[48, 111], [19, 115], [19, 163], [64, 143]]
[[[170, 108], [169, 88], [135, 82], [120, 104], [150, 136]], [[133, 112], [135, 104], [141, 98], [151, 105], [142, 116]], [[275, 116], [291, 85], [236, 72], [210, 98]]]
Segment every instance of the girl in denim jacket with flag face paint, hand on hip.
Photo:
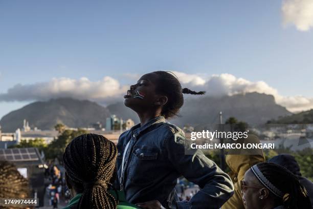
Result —
[[[185, 155], [184, 132], [165, 121], [183, 106], [183, 93], [205, 92], [182, 89], [173, 74], [157, 71], [143, 75], [124, 96], [125, 106], [140, 119], [117, 145], [118, 180], [131, 203], [158, 200], [165, 207], [219, 208], [233, 194], [230, 177], [200, 151]], [[178, 201], [172, 192], [180, 176], [202, 188], [190, 201]]]

